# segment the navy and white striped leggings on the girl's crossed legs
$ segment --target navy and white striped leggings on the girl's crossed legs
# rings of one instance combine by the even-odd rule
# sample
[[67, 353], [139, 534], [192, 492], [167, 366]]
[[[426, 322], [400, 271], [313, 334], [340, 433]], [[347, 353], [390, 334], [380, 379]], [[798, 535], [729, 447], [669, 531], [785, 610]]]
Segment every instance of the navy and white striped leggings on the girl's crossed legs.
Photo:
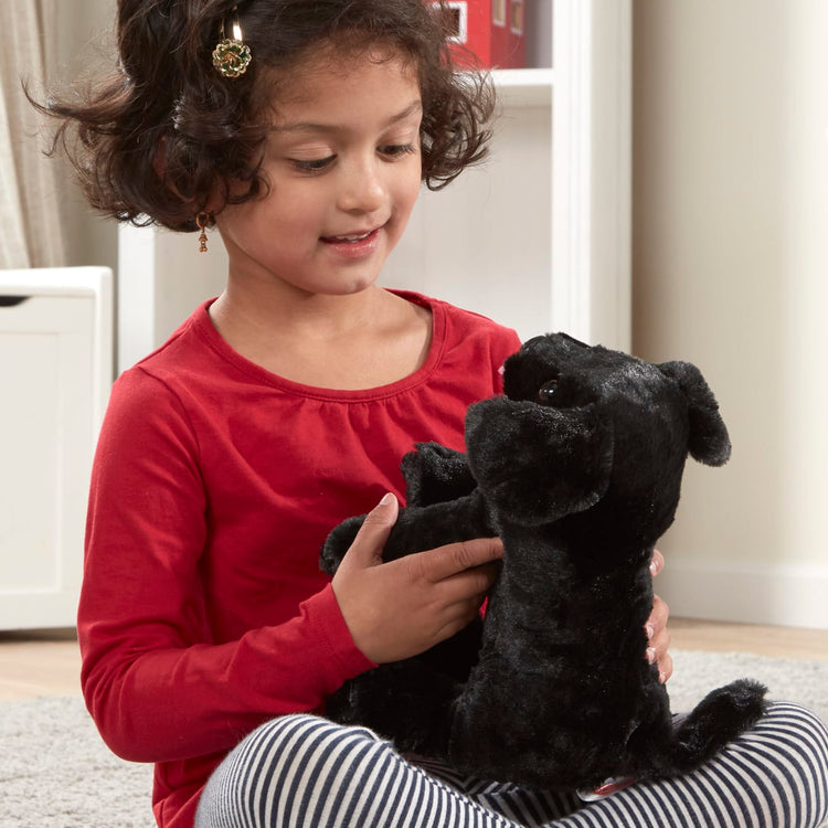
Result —
[[815, 828], [828, 816], [828, 729], [774, 703], [681, 778], [597, 802], [414, 764], [363, 728], [288, 715], [247, 736], [210, 778], [197, 828]]

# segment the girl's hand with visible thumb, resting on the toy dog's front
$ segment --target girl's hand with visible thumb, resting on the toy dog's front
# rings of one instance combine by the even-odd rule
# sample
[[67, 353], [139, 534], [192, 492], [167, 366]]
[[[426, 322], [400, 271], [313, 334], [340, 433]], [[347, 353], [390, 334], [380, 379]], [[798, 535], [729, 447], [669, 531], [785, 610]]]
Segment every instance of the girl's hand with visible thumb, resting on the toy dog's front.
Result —
[[497, 538], [417, 552], [396, 561], [382, 550], [399, 505], [386, 495], [365, 518], [333, 581], [353, 643], [372, 661], [415, 656], [453, 636], [477, 614], [503, 555]]

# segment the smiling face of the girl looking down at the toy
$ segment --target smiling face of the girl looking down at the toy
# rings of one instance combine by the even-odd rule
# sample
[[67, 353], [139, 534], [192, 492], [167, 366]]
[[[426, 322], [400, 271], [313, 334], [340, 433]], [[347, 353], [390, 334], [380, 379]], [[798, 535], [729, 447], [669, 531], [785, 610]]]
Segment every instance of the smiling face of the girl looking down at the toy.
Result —
[[302, 294], [369, 287], [420, 192], [416, 70], [388, 51], [326, 50], [279, 77], [269, 193], [216, 216], [231, 283]]

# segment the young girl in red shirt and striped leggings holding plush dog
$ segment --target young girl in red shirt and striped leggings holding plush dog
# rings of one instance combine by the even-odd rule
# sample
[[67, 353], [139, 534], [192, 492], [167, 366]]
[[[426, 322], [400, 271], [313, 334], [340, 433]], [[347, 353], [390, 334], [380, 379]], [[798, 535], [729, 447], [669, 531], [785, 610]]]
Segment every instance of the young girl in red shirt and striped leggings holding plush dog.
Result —
[[[519, 346], [376, 286], [421, 182], [482, 157], [490, 93], [453, 71], [423, 0], [118, 8], [117, 72], [50, 105], [59, 139], [97, 208], [208, 247], [217, 231], [230, 257], [224, 293], [115, 384], [92, 482], [83, 688], [110, 747], [156, 763], [158, 825], [817, 825], [828, 739], [793, 705], [687, 778], [588, 804], [319, 718], [349, 677], [468, 623], [502, 553], [478, 539], [381, 562], [400, 458], [461, 449], [467, 406]], [[365, 511], [329, 583], [326, 534]], [[641, 658], [666, 678], [665, 618], [657, 602]]]

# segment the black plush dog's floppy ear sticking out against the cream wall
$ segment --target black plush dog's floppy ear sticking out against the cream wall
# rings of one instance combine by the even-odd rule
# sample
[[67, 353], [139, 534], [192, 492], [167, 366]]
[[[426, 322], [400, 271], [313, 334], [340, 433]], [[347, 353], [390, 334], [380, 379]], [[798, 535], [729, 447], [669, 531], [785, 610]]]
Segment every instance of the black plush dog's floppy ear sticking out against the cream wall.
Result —
[[701, 371], [690, 362], [664, 362], [658, 368], [678, 382], [690, 405], [690, 455], [708, 466], [723, 466], [730, 458], [730, 436]]

